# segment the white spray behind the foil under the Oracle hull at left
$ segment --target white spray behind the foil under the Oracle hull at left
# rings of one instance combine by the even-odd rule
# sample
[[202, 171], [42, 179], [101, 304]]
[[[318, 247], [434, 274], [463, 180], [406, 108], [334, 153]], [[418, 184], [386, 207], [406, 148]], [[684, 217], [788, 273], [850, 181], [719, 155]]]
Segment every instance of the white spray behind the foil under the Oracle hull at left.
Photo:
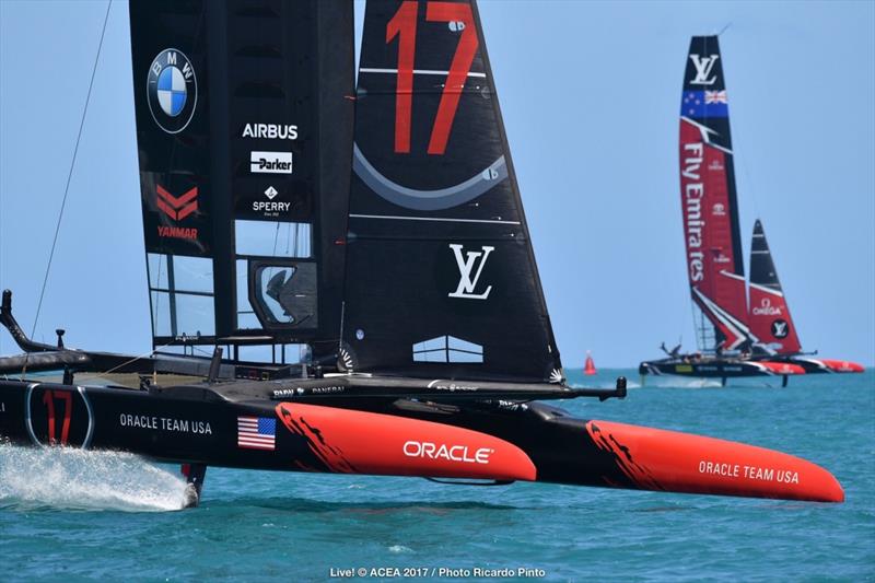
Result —
[[185, 486], [129, 453], [0, 445], [0, 509], [182, 510]]

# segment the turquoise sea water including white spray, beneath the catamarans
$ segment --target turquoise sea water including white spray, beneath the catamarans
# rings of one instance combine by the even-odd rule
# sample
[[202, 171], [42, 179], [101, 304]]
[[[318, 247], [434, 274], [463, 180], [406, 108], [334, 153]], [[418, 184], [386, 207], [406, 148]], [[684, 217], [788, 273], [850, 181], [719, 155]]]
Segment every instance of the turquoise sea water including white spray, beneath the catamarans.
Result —
[[875, 579], [872, 371], [786, 388], [668, 377], [642, 388], [634, 371], [570, 373], [588, 386], [617, 374], [630, 378], [626, 400], [564, 407], [808, 458], [839, 478], [845, 503], [210, 468], [201, 505], [179, 511], [184, 482], [171, 466], [5, 445], [0, 580], [339, 581], [346, 569], [374, 581], [404, 570], [470, 580], [475, 569], [542, 581]]

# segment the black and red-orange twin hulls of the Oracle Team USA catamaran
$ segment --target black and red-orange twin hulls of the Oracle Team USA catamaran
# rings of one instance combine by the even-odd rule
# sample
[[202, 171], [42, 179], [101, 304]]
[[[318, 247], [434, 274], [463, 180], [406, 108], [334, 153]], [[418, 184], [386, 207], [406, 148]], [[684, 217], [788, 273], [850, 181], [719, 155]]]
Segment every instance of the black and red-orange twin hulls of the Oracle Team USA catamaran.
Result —
[[[843, 500], [831, 474], [791, 455], [573, 419], [542, 404], [336, 397], [303, 403], [272, 400], [254, 386], [133, 390], [2, 381], [0, 436], [205, 466]], [[245, 433], [242, 419], [253, 418], [267, 424], [269, 435]]]

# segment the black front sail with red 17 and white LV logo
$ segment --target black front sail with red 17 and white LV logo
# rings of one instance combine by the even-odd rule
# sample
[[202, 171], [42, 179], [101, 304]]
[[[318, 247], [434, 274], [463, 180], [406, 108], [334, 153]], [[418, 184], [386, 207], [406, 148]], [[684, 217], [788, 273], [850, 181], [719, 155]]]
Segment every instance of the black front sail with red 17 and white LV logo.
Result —
[[364, 19], [341, 365], [562, 380], [474, 2]]

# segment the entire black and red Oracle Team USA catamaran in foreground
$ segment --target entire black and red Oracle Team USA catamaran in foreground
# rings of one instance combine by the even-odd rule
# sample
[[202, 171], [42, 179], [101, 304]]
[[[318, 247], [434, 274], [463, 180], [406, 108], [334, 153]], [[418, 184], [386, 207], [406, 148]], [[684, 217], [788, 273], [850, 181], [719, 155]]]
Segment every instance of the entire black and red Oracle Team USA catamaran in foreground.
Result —
[[155, 351], [33, 342], [5, 292], [4, 439], [183, 464], [189, 504], [211, 465], [843, 500], [788, 454], [537, 403], [626, 382], [565, 384], [476, 2], [369, 2], [355, 88], [348, 1], [130, 23]]

